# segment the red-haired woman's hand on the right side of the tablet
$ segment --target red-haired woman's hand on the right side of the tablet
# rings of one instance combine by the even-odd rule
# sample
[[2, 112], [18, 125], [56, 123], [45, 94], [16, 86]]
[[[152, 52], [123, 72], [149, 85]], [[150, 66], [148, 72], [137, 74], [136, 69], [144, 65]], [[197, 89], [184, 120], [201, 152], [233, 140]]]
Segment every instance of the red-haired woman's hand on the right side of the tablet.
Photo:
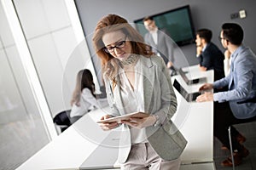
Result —
[[152, 115], [144, 118], [131, 117], [128, 121], [122, 121], [122, 123], [125, 123], [126, 125], [129, 125], [135, 128], [149, 127], [154, 125], [154, 122], [156, 122], [156, 117]]

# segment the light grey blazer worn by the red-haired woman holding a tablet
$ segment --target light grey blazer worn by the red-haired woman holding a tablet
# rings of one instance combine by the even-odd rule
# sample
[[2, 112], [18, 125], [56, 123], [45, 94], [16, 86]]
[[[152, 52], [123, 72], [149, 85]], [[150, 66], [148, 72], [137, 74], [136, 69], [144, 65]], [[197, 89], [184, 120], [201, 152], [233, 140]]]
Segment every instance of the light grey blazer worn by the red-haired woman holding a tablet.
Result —
[[[141, 55], [139, 57], [143, 66], [144, 111], [160, 117], [159, 127], [146, 127], [148, 142], [162, 159], [177, 159], [183, 149], [174, 146], [171, 140], [174, 138], [181, 148], [185, 147], [187, 141], [171, 121], [171, 117], [177, 110], [177, 99], [172, 88], [171, 77], [160, 57], [145, 58]], [[125, 115], [122, 110], [125, 104], [120, 96], [119, 78], [114, 90], [112, 83], [106, 77], [104, 80], [108, 103], [112, 109], [111, 115]], [[121, 126], [123, 131], [119, 140], [119, 162], [124, 163], [131, 150], [131, 134], [128, 126]], [[171, 136], [173, 133], [175, 137]]]

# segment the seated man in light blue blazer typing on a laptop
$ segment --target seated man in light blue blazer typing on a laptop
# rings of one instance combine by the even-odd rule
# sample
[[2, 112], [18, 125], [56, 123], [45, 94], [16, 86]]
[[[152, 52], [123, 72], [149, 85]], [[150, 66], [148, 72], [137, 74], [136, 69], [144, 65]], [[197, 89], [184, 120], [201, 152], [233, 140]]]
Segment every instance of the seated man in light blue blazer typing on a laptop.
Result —
[[[222, 26], [219, 37], [224, 48], [230, 51], [230, 74], [216, 82], [204, 84], [200, 90], [228, 87], [228, 91], [205, 93], [196, 101], [218, 101], [218, 111], [214, 114], [214, 136], [230, 149], [228, 127], [230, 125], [256, 120], [256, 56], [250, 48], [242, 45], [241, 26], [226, 23]], [[242, 158], [249, 151], [239, 143], [237, 132], [231, 130], [235, 165], [241, 164]], [[230, 157], [222, 162], [224, 167], [231, 167]]]

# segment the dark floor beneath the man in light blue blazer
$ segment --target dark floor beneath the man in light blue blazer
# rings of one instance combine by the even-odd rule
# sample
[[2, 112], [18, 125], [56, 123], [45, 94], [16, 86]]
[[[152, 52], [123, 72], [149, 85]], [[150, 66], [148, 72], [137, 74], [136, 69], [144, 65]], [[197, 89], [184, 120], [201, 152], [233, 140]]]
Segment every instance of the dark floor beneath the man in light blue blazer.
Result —
[[[243, 159], [242, 164], [236, 167], [236, 170], [256, 170], [256, 122], [236, 125], [236, 129], [242, 133], [247, 141], [244, 146], [250, 151], [250, 155]], [[214, 139], [214, 161], [217, 170], [231, 170], [232, 167], [222, 167], [220, 164], [228, 156], [228, 150], [220, 150], [221, 143]]]

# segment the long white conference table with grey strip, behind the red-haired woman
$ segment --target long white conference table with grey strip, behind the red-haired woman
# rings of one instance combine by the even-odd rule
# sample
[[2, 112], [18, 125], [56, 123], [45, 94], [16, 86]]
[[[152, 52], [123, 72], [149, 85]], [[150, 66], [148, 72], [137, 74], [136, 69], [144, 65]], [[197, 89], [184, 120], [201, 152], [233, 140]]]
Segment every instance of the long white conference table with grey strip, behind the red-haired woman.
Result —
[[[183, 68], [190, 79], [207, 77], [213, 82], [213, 71], [200, 71], [198, 65]], [[189, 93], [196, 92], [201, 83], [187, 85], [179, 75], [172, 77]], [[181, 170], [212, 170], [213, 161], [213, 103], [187, 102], [177, 95], [177, 113], [172, 121], [188, 144], [181, 156]], [[57, 138], [45, 145], [17, 170], [36, 169], [119, 169], [118, 144], [121, 129], [102, 131], [96, 123], [109, 107], [84, 115]]]

